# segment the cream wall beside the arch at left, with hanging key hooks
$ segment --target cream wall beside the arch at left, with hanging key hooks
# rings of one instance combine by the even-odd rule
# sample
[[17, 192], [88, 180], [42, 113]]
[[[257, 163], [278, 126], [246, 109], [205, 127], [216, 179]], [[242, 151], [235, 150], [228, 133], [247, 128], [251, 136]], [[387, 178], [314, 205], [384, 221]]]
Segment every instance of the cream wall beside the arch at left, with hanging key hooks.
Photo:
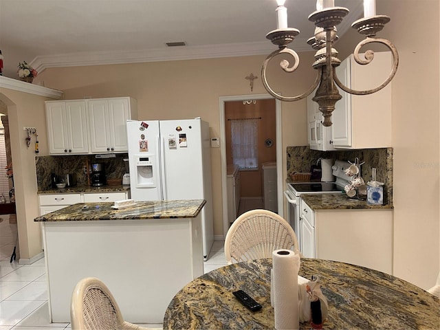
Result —
[[[39, 216], [35, 137], [32, 137], [32, 144], [28, 148], [23, 127], [36, 127], [39, 138], [47, 140], [44, 109], [44, 100], [47, 98], [0, 88], [0, 100], [8, 107], [20, 259], [32, 259], [42, 252], [40, 224], [34, 222], [34, 218]], [[47, 144], [41, 146], [40, 151], [43, 155], [47, 154]]]

